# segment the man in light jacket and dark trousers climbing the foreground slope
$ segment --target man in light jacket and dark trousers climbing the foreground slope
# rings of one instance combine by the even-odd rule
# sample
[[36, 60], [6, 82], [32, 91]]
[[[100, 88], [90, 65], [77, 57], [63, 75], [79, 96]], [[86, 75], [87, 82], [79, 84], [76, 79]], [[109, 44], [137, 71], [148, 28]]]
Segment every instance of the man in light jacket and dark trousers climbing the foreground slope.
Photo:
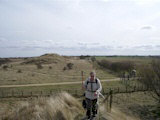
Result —
[[84, 82], [85, 88], [85, 98], [87, 105], [87, 118], [95, 117], [97, 114], [97, 100], [99, 98], [99, 93], [102, 90], [101, 82], [98, 78], [96, 78], [96, 73], [91, 72], [90, 77], [86, 79]]

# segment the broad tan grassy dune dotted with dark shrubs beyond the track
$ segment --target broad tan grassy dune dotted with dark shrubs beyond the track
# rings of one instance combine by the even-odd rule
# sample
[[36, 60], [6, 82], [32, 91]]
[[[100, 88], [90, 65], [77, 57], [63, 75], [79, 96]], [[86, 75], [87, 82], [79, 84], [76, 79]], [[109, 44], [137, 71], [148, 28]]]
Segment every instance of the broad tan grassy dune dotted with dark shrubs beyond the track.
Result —
[[[86, 78], [91, 70], [96, 69], [88, 60], [55, 54], [11, 59], [10, 61], [6, 64], [8, 66], [6, 70], [3, 69], [4, 65], [0, 67], [0, 85], [81, 81], [81, 71], [84, 71], [84, 78]], [[40, 63], [43, 68], [38, 69], [37, 63]], [[68, 63], [72, 63], [73, 67], [64, 70]], [[96, 72], [100, 79], [115, 77], [108, 71], [98, 68]]]

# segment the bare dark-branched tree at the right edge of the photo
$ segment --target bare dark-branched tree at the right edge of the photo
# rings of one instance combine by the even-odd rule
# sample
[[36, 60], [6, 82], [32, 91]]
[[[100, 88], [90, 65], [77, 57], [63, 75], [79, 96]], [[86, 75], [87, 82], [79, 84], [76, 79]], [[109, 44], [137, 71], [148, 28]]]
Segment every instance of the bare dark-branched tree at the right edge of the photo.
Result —
[[151, 90], [151, 95], [160, 102], [160, 60], [153, 60], [150, 65], [141, 67], [139, 77], [139, 81]]

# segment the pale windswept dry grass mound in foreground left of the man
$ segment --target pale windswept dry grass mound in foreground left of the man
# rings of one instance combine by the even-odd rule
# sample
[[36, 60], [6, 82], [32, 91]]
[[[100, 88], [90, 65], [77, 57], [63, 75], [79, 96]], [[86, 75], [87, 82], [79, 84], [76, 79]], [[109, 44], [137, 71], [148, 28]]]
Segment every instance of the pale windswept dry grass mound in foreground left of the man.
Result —
[[4, 120], [74, 120], [84, 114], [81, 104], [66, 92], [23, 102]]

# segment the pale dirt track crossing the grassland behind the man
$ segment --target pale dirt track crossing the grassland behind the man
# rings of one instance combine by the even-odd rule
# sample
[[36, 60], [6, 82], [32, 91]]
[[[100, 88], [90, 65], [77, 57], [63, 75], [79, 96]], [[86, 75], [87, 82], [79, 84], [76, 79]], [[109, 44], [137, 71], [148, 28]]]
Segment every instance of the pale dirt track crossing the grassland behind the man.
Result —
[[[101, 82], [107, 81], [120, 81], [120, 78], [101, 80]], [[8, 87], [30, 87], [30, 86], [49, 86], [49, 85], [68, 85], [68, 84], [80, 84], [81, 81], [77, 82], [60, 82], [60, 83], [41, 83], [41, 84], [24, 84], [24, 85], [1, 85], [0, 88]]]

